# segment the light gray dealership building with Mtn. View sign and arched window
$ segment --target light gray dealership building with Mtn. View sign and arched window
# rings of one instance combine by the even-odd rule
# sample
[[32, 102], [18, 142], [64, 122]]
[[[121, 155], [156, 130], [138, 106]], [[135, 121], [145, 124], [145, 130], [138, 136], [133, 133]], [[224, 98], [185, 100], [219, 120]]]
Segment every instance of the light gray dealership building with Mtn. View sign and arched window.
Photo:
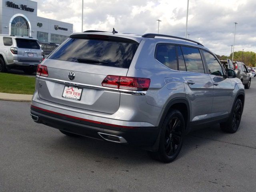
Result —
[[30, 36], [62, 43], [73, 33], [73, 24], [37, 16], [37, 2], [0, 0], [0, 34]]

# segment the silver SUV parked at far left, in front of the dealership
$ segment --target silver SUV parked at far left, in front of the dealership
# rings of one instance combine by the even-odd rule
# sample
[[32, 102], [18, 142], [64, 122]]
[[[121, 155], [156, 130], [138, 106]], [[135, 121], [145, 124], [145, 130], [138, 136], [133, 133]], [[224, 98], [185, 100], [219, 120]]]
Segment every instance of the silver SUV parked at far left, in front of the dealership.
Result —
[[16, 68], [31, 74], [41, 61], [42, 50], [37, 39], [0, 34], [0, 72]]

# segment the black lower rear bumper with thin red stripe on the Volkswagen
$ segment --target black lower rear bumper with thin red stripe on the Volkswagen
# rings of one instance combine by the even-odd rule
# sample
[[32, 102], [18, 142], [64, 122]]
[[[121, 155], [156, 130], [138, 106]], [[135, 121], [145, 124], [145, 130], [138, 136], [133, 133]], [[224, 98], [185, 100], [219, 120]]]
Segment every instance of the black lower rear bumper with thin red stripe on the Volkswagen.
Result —
[[[131, 127], [106, 124], [51, 112], [33, 106], [31, 106], [30, 113], [32, 114], [33, 119], [37, 120], [37, 123], [100, 140], [103, 140], [103, 138], [99, 133], [110, 134], [124, 138], [127, 142], [123, 143], [133, 146], [153, 146], [159, 133], [158, 127]], [[38, 119], [36, 117], [38, 117]]]

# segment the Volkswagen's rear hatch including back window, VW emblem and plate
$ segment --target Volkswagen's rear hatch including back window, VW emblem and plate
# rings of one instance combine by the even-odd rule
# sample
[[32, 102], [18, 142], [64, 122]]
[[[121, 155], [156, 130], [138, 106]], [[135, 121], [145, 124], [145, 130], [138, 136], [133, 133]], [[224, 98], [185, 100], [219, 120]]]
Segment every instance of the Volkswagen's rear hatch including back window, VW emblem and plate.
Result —
[[71, 35], [42, 63], [48, 77], [39, 78], [40, 98], [113, 114], [119, 108], [120, 92], [102, 87], [102, 81], [107, 75], [126, 76], [138, 45], [138, 40], [116, 36]]

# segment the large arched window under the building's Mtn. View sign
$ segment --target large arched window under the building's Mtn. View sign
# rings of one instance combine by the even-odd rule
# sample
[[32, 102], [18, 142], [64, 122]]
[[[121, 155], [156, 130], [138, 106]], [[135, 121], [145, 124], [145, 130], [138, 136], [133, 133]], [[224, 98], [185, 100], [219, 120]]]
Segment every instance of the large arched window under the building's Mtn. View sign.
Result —
[[24, 17], [17, 16], [12, 20], [11, 35], [15, 35], [15, 36], [29, 35], [28, 21]]

